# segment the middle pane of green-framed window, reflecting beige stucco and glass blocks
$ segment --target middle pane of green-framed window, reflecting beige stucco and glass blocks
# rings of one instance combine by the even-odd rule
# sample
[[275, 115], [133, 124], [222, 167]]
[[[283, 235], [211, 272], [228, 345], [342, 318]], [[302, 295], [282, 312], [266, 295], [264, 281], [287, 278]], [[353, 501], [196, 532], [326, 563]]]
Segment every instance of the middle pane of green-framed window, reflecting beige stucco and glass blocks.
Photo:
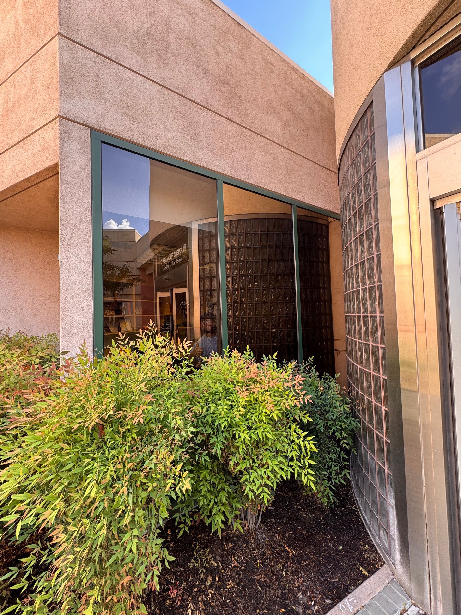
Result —
[[297, 359], [291, 205], [224, 185], [229, 347]]

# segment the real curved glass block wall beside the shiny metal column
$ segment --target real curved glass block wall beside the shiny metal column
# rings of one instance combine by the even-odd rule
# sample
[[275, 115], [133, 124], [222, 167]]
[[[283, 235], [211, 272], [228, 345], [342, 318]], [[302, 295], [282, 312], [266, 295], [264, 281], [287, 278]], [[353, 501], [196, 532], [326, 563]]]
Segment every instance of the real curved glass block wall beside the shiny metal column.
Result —
[[395, 562], [373, 106], [339, 166], [349, 395], [360, 421], [351, 472], [368, 530]]

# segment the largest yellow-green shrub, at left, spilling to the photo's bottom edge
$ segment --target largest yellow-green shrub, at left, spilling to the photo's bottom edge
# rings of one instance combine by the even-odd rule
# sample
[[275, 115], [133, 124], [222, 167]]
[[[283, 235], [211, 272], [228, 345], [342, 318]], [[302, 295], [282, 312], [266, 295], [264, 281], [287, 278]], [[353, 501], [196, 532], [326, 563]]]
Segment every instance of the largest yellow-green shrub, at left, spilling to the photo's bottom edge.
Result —
[[146, 612], [170, 559], [159, 528], [190, 488], [185, 350], [149, 334], [100, 360], [83, 349], [46, 395], [2, 398], [1, 536], [44, 536], [4, 577], [24, 600], [3, 612]]

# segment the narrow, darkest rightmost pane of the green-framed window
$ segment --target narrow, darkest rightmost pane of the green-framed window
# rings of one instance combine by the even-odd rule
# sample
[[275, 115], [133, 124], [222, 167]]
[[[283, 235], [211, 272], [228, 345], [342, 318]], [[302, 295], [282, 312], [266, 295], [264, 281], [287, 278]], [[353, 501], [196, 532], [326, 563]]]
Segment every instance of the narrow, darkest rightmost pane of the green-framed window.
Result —
[[328, 218], [297, 207], [302, 354], [334, 376]]

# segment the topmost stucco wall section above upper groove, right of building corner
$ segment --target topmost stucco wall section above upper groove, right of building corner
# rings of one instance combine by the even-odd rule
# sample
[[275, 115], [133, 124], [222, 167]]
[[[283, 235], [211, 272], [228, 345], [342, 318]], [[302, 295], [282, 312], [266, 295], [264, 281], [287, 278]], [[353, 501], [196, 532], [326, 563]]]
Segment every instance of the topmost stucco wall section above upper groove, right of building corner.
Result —
[[60, 31], [332, 168], [331, 95], [210, 0], [61, 0]]

